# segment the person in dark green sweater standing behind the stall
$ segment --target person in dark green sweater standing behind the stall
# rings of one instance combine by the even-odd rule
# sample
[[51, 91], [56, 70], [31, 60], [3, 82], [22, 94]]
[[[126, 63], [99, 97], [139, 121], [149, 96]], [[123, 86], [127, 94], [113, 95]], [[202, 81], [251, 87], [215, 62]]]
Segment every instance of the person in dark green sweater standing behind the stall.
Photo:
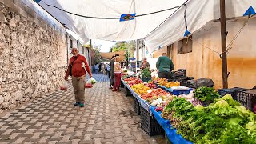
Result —
[[171, 78], [170, 72], [174, 70], [174, 63], [167, 57], [166, 53], [162, 53], [162, 56], [158, 58], [156, 66], [159, 78]]

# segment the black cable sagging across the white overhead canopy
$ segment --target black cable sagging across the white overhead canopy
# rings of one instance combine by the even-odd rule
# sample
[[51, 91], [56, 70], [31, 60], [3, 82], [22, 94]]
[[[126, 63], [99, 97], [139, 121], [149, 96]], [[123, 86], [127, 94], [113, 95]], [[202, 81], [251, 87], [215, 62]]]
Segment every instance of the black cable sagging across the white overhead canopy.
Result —
[[[47, 4], [46, 2], [42, 1], [43, 3], [46, 4], [46, 6], [50, 6], [50, 7], [54, 7], [58, 10], [62, 10], [61, 8], [57, 7], [57, 6], [53, 6], [53, 5], [49, 5]], [[166, 10], [159, 10], [159, 11], [155, 11], [155, 12], [152, 12], [152, 13], [147, 13], [147, 14], [139, 14], [139, 15], [135, 15], [135, 17], [142, 17], [142, 16], [146, 16], [146, 15], [150, 15], [150, 14], [157, 14], [157, 13], [161, 13], [163, 11], [167, 11], [167, 10], [173, 10], [173, 9], [177, 9], [179, 6], [174, 6], [174, 7], [171, 7], [169, 9], [166, 9]], [[82, 18], [94, 18], [94, 19], [120, 19], [120, 17], [93, 17], [93, 16], [86, 16], [86, 15], [82, 15], [82, 14], [74, 14], [70, 11], [66, 11], [66, 10], [62, 10], [63, 12], [66, 12], [68, 14], [73, 14], [73, 15], [76, 15], [78, 17], [82, 17]]]

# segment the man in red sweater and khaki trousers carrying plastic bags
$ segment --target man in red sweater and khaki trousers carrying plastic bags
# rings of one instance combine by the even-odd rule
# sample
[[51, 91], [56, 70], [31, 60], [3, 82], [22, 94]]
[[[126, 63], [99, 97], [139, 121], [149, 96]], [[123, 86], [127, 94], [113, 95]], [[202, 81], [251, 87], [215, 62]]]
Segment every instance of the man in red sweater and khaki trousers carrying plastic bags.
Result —
[[[65, 80], [67, 80], [69, 76], [72, 76], [72, 85], [74, 88], [75, 96], [74, 98], [76, 101], [74, 106], [83, 107], [85, 103], [86, 71], [91, 78], [90, 67], [86, 62], [86, 58], [78, 54], [77, 48], [72, 48], [71, 53], [73, 54], [73, 57], [70, 58], [70, 63], [68, 69], [66, 70]], [[86, 65], [86, 70], [82, 67], [82, 63]]]

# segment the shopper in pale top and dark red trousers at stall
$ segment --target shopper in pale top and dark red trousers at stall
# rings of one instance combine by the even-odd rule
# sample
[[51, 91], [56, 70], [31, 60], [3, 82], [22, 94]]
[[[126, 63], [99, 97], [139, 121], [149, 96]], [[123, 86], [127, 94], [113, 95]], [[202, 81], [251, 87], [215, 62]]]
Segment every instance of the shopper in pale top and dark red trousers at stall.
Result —
[[122, 72], [122, 68], [121, 68], [121, 64], [120, 64], [120, 57], [116, 56], [115, 57], [115, 62], [114, 62], [114, 87], [113, 87], [113, 91], [120, 91], [119, 87], [121, 84], [121, 72]]

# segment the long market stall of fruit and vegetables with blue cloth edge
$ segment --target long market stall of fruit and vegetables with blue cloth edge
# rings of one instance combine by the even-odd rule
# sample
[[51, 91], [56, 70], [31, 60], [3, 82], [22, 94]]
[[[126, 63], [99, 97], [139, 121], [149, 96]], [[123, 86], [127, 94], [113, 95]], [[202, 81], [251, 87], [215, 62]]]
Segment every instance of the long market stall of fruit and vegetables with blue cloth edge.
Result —
[[256, 142], [256, 115], [230, 94], [206, 86], [192, 90], [166, 78], [143, 82], [128, 76], [122, 83], [134, 96], [134, 110], [150, 136], [164, 130], [178, 144]]

